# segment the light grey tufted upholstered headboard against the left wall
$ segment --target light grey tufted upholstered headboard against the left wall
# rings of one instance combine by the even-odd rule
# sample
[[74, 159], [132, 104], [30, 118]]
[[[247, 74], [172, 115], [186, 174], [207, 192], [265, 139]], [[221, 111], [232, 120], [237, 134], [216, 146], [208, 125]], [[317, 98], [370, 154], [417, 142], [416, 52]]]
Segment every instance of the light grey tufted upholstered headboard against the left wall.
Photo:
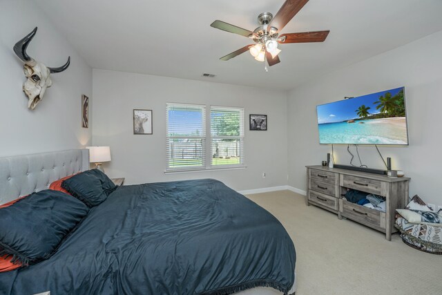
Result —
[[48, 189], [53, 181], [88, 169], [88, 149], [0, 158], [0, 204]]

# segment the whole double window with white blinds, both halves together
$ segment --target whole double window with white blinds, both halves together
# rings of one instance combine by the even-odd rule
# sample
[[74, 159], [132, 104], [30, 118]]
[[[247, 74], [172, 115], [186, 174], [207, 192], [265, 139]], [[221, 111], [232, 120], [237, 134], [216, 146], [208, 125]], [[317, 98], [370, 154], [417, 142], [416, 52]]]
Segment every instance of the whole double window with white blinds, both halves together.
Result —
[[211, 106], [206, 135], [206, 106], [168, 103], [166, 132], [167, 171], [244, 165], [243, 108]]

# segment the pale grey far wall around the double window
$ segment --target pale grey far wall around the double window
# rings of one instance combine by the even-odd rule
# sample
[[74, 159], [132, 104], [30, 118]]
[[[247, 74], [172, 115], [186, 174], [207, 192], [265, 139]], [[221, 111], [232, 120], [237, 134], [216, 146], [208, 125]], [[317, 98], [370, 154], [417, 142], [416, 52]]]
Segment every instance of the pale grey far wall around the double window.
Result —
[[[164, 174], [166, 102], [244, 107], [247, 121], [267, 114], [268, 131], [246, 123], [246, 169]], [[215, 178], [238, 190], [276, 187], [287, 184], [286, 106], [285, 91], [94, 69], [93, 144], [111, 146], [106, 173], [128, 184]], [[133, 135], [134, 108], [153, 110], [153, 135]]]

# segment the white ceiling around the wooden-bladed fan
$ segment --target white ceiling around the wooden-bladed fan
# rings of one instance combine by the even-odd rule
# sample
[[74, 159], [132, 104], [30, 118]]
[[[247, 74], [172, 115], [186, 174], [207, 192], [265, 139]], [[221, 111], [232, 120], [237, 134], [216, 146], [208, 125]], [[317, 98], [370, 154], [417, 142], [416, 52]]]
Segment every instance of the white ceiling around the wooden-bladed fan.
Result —
[[254, 30], [256, 17], [276, 15], [283, 1], [35, 3], [93, 68], [285, 90], [442, 30], [441, 0], [310, 0], [281, 33], [330, 30], [324, 43], [282, 44], [269, 73], [249, 53], [220, 61], [251, 43], [211, 28], [215, 19]]

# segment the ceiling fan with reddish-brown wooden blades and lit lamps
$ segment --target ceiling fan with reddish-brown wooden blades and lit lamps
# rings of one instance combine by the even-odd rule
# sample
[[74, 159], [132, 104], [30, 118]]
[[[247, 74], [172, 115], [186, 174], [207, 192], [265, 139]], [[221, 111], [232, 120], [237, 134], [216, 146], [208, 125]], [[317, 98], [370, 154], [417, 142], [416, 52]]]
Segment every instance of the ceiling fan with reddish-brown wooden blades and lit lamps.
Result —
[[[281, 50], [278, 48], [278, 44], [323, 42], [325, 38], [327, 38], [327, 35], [329, 35], [329, 30], [318, 32], [292, 32], [279, 35], [280, 30], [287, 25], [308, 1], [309, 0], [286, 0], [275, 17], [273, 17], [270, 12], [262, 12], [258, 15], [258, 23], [260, 23], [260, 26], [253, 32], [238, 26], [233, 26], [224, 21], [213, 21], [210, 25], [211, 27], [249, 37], [256, 43], [244, 46], [220, 59], [227, 61], [249, 50], [250, 54], [255, 57], [256, 60], [267, 61], [269, 66], [274, 66], [280, 62], [278, 54]], [[267, 70], [267, 64], [265, 69]]]

